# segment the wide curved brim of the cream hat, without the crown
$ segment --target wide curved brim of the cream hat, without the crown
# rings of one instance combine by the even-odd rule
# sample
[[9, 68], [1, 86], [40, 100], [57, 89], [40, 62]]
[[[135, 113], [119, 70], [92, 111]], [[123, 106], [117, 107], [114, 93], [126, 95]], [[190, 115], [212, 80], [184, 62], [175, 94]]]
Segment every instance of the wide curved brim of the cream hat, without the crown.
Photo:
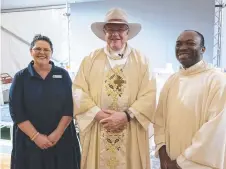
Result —
[[91, 30], [98, 38], [100, 38], [103, 41], [105, 41], [104, 25], [106, 25], [107, 23], [128, 25], [129, 26], [128, 40], [134, 38], [141, 31], [141, 24], [139, 24], [139, 23], [94, 22], [91, 25]]

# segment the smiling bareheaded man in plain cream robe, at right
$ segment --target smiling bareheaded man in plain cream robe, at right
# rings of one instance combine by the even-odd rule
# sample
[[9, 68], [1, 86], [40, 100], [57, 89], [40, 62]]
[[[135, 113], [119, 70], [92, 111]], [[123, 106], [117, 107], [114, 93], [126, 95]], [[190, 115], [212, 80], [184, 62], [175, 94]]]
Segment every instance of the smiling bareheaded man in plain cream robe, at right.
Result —
[[181, 69], [163, 87], [155, 114], [162, 169], [226, 169], [226, 78], [204, 60], [204, 37], [180, 34]]

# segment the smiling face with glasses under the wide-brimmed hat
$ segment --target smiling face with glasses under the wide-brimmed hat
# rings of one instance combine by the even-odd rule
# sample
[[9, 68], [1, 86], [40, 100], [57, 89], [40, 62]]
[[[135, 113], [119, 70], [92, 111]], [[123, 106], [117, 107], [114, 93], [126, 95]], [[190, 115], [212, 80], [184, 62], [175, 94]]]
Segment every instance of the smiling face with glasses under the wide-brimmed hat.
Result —
[[121, 50], [127, 42], [128, 31], [129, 27], [126, 24], [106, 24], [104, 32], [108, 46], [114, 51]]

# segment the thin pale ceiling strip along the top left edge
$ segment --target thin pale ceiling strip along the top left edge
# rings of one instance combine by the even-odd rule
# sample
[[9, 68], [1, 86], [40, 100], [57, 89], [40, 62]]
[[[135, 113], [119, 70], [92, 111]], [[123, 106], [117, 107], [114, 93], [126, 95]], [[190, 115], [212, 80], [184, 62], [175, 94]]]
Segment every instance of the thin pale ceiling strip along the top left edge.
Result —
[[95, 0], [1, 0], [1, 9], [27, 8], [37, 6], [62, 5], [74, 2], [89, 2]]

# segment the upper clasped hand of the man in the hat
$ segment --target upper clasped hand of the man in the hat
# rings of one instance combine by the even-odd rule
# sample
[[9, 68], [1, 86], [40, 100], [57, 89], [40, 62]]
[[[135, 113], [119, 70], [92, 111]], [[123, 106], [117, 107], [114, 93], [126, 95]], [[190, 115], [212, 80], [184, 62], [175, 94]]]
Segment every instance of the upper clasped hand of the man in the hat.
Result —
[[100, 121], [103, 127], [112, 132], [120, 132], [126, 126], [128, 120], [124, 112], [117, 112], [114, 110], [103, 110], [105, 113], [109, 114], [110, 117], [105, 118]]

